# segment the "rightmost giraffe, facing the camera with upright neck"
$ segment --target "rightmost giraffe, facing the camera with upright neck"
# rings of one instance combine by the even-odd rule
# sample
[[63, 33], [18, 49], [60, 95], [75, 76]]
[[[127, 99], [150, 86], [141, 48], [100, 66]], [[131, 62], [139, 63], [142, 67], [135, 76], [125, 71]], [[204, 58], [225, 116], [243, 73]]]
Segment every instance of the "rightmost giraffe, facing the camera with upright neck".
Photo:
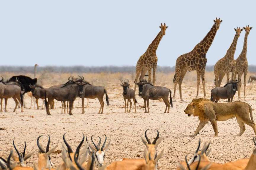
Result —
[[236, 59], [236, 73], [235, 73], [235, 77], [238, 74], [238, 99], [241, 98], [241, 78], [242, 78], [242, 74], [244, 73], [244, 98], [245, 98], [245, 86], [246, 86], [246, 75], [248, 73], [248, 61], [246, 58], [246, 52], [247, 52], [247, 37], [250, 33], [250, 30], [252, 29], [252, 27], [248, 27], [245, 26], [244, 30], [245, 30], [245, 36], [244, 36], [244, 47], [243, 50], [241, 52], [241, 54], [238, 56], [238, 58]]

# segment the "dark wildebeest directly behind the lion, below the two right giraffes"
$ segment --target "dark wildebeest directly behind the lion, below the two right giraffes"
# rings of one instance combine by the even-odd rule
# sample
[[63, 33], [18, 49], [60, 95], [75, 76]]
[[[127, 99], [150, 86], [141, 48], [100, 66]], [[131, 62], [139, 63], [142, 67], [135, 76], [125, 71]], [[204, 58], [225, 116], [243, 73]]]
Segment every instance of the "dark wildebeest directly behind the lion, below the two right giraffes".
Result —
[[233, 97], [237, 91], [237, 83], [239, 81], [229, 81], [223, 87], [215, 87], [212, 89], [211, 101], [218, 103], [219, 99], [228, 99], [228, 102], [233, 101]]

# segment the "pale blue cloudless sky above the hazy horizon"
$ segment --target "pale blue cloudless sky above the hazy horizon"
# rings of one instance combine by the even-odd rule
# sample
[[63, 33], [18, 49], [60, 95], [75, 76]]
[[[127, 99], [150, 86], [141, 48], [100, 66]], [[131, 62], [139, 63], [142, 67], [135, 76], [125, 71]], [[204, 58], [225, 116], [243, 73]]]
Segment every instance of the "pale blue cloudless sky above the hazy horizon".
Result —
[[[223, 22], [207, 53], [208, 65], [223, 57], [234, 28], [254, 27], [247, 59], [256, 65], [254, 1], [0, 1], [0, 65], [136, 65], [160, 31], [169, 28], [157, 49], [158, 65], [174, 66], [209, 32], [213, 19]], [[240, 54], [243, 31], [235, 58]]]

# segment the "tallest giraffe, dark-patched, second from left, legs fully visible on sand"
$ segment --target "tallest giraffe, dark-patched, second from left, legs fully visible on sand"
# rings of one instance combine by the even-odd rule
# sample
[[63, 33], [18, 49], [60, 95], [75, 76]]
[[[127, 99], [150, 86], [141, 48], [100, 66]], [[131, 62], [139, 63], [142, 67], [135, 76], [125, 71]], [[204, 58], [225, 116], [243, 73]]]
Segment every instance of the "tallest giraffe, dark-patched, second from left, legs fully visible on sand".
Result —
[[176, 94], [176, 86], [179, 84], [179, 91], [180, 91], [180, 100], [182, 99], [182, 92], [181, 92], [181, 84], [183, 81], [183, 78], [187, 71], [193, 71], [196, 70], [197, 73], [197, 93], [196, 97], [198, 98], [198, 92], [199, 92], [199, 85], [200, 85], [200, 76], [202, 78], [203, 83], [203, 89], [204, 89], [204, 97], [205, 94], [205, 80], [204, 80], [204, 73], [205, 73], [205, 65], [207, 62], [206, 59], [206, 53], [208, 49], [210, 48], [213, 39], [220, 27], [220, 23], [222, 20], [217, 19], [213, 20], [214, 24], [211, 28], [211, 30], [208, 32], [208, 34], [205, 36], [205, 38], [199, 42], [192, 51], [189, 53], [183, 54], [179, 56], [176, 60], [176, 66], [175, 66], [175, 75], [173, 78], [174, 82], [174, 94], [173, 98], [175, 99]]

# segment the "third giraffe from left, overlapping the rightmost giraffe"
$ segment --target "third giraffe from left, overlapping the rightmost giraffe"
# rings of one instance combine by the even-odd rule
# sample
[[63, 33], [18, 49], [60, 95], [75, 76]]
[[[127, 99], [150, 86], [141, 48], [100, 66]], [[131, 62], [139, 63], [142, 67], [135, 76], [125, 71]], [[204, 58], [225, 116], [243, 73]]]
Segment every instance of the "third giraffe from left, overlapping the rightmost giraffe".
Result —
[[[215, 83], [216, 87], [220, 86], [225, 74], [227, 74], [227, 81], [229, 81], [229, 73], [232, 71], [232, 75], [234, 74], [235, 69], [232, 69], [232, 68], [233, 68], [233, 64], [234, 64], [234, 55], [235, 55], [235, 51], [236, 51], [236, 44], [237, 44], [237, 40], [240, 36], [240, 33], [242, 31], [243, 31], [243, 29], [236, 27], [236, 29], [235, 29], [236, 35], [233, 39], [232, 44], [230, 45], [229, 49], [227, 50], [226, 55], [223, 58], [221, 58], [219, 61], [217, 61], [216, 64], [214, 65], [214, 75], [215, 75], [214, 83]], [[232, 76], [232, 80], [233, 80], [233, 76]]]

